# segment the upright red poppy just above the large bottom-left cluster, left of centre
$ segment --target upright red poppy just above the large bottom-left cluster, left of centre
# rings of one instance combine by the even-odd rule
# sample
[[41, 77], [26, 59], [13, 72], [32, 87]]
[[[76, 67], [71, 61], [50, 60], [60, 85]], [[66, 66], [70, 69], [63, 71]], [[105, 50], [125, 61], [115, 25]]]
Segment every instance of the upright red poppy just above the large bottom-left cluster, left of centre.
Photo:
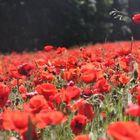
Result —
[[46, 99], [49, 99], [50, 96], [53, 96], [57, 93], [55, 85], [50, 83], [43, 83], [36, 87], [36, 91], [43, 95]]

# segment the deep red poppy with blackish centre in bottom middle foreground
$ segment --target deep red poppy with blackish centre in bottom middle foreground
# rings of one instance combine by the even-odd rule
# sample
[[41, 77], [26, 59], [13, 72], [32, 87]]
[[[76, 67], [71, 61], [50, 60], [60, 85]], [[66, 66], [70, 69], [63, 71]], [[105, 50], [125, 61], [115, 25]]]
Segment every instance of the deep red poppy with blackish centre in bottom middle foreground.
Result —
[[85, 128], [87, 124], [87, 117], [84, 115], [76, 115], [70, 124], [70, 127], [72, 129], [72, 132], [77, 135], [80, 134], [82, 132], [82, 130]]

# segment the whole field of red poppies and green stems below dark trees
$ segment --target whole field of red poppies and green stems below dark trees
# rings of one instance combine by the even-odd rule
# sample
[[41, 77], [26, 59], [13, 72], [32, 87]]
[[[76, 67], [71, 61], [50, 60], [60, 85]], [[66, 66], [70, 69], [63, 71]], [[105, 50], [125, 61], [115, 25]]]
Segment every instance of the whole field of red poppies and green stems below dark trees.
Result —
[[1, 140], [140, 140], [140, 42], [0, 54]]

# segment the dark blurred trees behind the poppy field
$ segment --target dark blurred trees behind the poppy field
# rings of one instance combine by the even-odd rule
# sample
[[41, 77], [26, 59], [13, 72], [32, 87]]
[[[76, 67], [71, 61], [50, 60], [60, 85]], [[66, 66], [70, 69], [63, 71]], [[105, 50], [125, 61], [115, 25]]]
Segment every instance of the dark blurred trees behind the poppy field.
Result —
[[115, 20], [114, 8], [132, 18], [140, 1], [0, 0], [0, 51], [140, 39], [140, 25]]

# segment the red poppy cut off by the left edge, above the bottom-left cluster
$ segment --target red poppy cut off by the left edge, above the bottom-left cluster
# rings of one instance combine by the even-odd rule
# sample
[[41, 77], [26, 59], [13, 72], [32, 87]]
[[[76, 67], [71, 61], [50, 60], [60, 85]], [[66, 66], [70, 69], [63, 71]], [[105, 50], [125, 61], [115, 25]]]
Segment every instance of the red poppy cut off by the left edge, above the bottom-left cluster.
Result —
[[0, 83], [0, 107], [3, 107], [6, 104], [9, 94], [9, 87], [3, 83]]

